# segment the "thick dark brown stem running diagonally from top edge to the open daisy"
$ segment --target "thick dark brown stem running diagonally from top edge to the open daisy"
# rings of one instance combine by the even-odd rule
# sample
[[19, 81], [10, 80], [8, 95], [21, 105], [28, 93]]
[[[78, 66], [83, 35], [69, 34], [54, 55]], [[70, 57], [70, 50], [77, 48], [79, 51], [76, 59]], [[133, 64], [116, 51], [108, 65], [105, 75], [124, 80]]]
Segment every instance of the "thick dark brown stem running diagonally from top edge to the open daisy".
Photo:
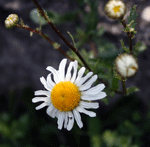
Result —
[[48, 16], [46, 15], [46, 13], [44, 12], [44, 10], [41, 8], [41, 6], [38, 4], [38, 2], [36, 0], [32, 0], [33, 3], [36, 5], [39, 13], [45, 18], [45, 20], [47, 21], [47, 23], [51, 26], [51, 28], [58, 34], [58, 36], [66, 43], [66, 45], [69, 46], [69, 48], [80, 58], [80, 60], [82, 61], [82, 63], [84, 64], [84, 66], [91, 71], [90, 67], [87, 65], [87, 63], [85, 62], [85, 60], [83, 59], [83, 57], [81, 56], [81, 54], [78, 52], [78, 50], [72, 45], [70, 44], [70, 42], [60, 33], [60, 31], [55, 27], [55, 25], [50, 21], [50, 19], [48, 18]]

